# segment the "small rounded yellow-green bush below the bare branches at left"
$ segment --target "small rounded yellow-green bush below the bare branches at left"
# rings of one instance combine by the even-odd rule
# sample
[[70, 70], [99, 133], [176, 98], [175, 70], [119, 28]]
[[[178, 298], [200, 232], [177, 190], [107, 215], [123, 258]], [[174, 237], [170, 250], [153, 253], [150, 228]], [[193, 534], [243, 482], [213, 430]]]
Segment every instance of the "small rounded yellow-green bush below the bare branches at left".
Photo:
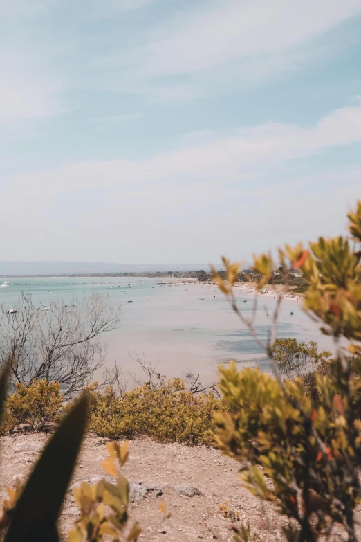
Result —
[[6, 410], [1, 424], [3, 432], [10, 431], [18, 424], [41, 428], [59, 417], [63, 401], [59, 382], [37, 380], [28, 386], [17, 383], [15, 389], [6, 399]]

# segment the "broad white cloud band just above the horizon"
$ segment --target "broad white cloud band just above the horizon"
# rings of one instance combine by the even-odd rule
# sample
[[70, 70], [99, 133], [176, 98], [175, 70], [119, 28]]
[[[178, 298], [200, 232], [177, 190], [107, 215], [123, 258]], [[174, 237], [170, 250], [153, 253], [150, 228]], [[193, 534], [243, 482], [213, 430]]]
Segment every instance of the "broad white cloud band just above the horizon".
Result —
[[342, 233], [346, 212], [359, 195], [360, 176], [360, 168], [335, 170], [305, 183], [295, 174], [288, 184], [257, 194], [251, 180], [237, 190], [223, 188], [220, 179], [176, 186], [153, 182], [138, 190], [124, 183], [118, 192], [99, 197], [95, 208], [83, 201], [70, 212], [71, 199], [51, 205], [41, 196], [28, 197], [23, 213], [10, 201], [14, 213], [2, 258], [219, 262], [225, 253], [249, 260], [252, 253], [284, 242]]

